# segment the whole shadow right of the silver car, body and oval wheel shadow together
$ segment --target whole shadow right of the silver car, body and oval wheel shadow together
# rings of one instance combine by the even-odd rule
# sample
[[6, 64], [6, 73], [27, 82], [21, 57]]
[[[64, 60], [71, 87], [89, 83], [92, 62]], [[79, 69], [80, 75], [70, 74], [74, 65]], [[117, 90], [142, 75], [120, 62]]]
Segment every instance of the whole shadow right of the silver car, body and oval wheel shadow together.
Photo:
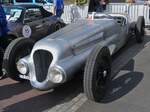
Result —
[[[149, 43], [150, 38], [146, 36], [145, 41], [141, 44], [135, 44], [134, 38], [131, 38], [127, 46], [123, 47], [117, 54], [113, 57], [113, 70], [116, 67], [119, 68], [119, 64], [124, 65], [119, 68], [114, 74], [112, 74], [112, 81], [109, 84], [109, 89], [107, 91], [106, 97], [101, 101], [101, 103], [111, 103], [121, 97], [132, 92], [138, 84], [144, 78], [144, 74], [141, 72], [134, 71], [135, 57], [139, 52], [141, 52], [147, 43]], [[121, 55], [120, 55], [121, 54]], [[121, 60], [121, 63], [118, 64]], [[115, 62], [116, 61], [116, 62]], [[117, 76], [120, 71], [127, 71], [127, 73]]]

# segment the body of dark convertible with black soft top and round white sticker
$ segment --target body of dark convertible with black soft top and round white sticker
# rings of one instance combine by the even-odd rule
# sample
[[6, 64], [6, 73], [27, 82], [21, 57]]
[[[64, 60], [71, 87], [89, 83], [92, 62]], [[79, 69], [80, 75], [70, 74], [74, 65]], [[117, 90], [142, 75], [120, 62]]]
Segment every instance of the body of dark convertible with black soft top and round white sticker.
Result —
[[39, 5], [3, 5], [8, 19], [8, 36], [38, 40], [54, 32], [56, 24], [63, 24]]

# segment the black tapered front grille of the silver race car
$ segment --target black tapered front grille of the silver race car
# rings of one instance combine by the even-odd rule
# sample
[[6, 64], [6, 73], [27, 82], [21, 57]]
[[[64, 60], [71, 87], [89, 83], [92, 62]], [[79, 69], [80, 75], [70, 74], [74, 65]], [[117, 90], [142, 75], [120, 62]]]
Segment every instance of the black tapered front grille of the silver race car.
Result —
[[48, 68], [53, 60], [53, 56], [48, 51], [37, 50], [34, 53], [33, 58], [36, 78], [39, 82], [43, 82], [47, 77]]

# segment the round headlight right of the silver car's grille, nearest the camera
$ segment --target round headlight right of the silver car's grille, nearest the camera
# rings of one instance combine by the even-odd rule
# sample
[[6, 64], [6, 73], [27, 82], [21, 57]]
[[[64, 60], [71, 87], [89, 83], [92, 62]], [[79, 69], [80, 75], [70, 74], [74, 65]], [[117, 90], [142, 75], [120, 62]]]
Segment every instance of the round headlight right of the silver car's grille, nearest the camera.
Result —
[[63, 83], [65, 81], [65, 72], [58, 67], [52, 67], [49, 72], [50, 81], [53, 83]]

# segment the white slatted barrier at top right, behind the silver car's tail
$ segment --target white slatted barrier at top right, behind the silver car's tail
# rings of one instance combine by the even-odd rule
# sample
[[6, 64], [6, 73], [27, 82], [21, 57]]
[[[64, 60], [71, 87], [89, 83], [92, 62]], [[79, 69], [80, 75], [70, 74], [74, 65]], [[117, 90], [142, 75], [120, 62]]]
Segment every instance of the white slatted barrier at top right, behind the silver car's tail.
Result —
[[107, 11], [112, 13], [126, 13], [131, 21], [136, 21], [138, 16], [144, 16], [146, 25], [150, 25], [149, 6], [143, 4], [110, 3]]

